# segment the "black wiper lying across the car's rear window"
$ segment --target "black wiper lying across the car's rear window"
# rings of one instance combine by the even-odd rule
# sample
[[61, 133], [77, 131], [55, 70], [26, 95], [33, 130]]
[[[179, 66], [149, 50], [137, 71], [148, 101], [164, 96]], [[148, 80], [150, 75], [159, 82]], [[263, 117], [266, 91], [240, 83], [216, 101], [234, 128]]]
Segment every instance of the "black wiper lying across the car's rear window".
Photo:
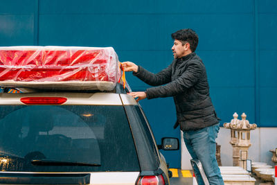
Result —
[[87, 164], [80, 162], [71, 162], [71, 161], [56, 161], [56, 160], [32, 160], [30, 161], [33, 165], [38, 166], [101, 166], [101, 164]]

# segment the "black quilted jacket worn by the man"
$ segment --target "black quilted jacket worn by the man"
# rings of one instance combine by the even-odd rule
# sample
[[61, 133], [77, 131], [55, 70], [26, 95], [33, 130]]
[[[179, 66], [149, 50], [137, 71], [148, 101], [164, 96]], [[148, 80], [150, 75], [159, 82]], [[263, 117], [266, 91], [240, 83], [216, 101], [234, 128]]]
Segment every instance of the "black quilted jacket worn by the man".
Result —
[[219, 122], [209, 95], [205, 66], [195, 53], [173, 60], [157, 74], [140, 66], [133, 74], [148, 85], [157, 86], [146, 90], [148, 99], [173, 96], [177, 112], [174, 127], [199, 130]]

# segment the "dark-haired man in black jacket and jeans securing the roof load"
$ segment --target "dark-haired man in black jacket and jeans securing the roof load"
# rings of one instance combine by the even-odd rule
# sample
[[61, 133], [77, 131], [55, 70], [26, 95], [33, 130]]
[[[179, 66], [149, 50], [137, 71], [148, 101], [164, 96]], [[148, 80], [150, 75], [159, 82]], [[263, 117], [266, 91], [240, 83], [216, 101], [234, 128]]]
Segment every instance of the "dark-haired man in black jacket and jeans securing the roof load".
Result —
[[[134, 76], [148, 85], [157, 86], [146, 91], [129, 95], [143, 100], [173, 96], [177, 112], [177, 122], [184, 132], [184, 141], [193, 159], [201, 161], [210, 184], [224, 184], [215, 157], [215, 139], [219, 131], [219, 118], [209, 95], [206, 69], [195, 54], [198, 35], [194, 30], [183, 29], [172, 33], [174, 44], [173, 62], [157, 74], [151, 73], [133, 62], [123, 62], [125, 71], [133, 71]], [[195, 169], [198, 184], [204, 184]]]

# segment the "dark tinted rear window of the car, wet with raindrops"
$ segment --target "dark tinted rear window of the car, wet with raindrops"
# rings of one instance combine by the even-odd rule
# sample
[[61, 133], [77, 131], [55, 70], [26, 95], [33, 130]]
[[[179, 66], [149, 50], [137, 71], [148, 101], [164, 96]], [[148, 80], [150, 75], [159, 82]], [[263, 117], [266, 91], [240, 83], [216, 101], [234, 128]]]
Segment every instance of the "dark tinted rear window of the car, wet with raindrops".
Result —
[[1, 170], [140, 170], [122, 106], [2, 105], [0, 109]]

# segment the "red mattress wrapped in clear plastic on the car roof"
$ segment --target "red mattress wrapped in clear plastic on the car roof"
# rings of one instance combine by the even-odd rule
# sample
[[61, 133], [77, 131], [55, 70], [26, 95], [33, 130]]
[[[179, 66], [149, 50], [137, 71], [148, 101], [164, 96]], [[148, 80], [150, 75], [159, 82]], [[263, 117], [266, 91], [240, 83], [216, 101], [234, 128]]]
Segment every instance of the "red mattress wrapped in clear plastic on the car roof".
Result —
[[111, 90], [120, 79], [113, 48], [0, 47], [0, 86]]

